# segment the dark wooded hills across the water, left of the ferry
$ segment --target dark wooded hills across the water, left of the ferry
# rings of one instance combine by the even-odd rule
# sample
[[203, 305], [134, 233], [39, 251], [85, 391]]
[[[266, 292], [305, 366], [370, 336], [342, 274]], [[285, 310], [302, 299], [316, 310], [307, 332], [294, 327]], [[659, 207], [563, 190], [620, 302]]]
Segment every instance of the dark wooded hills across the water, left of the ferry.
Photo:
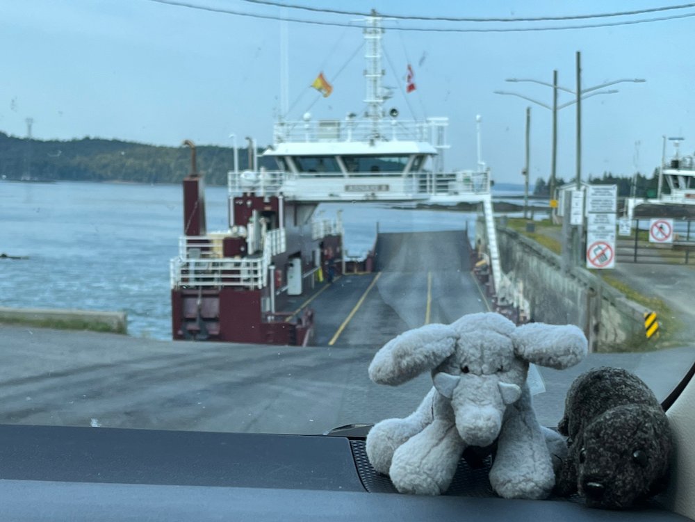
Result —
[[[196, 147], [197, 169], [210, 185], [226, 185], [234, 168], [230, 147]], [[259, 150], [260, 152], [260, 150]], [[238, 149], [239, 170], [248, 168], [248, 149]], [[270, 158], [259, 163], [275, 169]], [[38, 181], [134, 181], [179, 183], [190, 173], [188, 147], [159, 147], [121, 140], [29, 140], [0, 132], [0, 179]]]

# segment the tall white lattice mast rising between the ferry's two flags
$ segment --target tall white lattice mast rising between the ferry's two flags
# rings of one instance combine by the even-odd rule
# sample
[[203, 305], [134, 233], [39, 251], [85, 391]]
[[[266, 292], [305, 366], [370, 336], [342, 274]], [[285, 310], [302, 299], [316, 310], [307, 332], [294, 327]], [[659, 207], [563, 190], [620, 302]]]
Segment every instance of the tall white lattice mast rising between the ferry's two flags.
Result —
[[367, 117], [369, 120], [372, 120], [372, 132], [370, 134], [370, 139], [372, 140], [380, 137], [379, 122], [381, 121], [383, 115], [383, 33], [384, 29], [382, 28], [382, 17], [377, 16], [376, 10], [373, 9], [371, 15], [366, 18], [366, 28], [364, 29], [364, 59], [366, 61], [366, 69], [364, 70], [364, 77], [366, 79], [366, 99], [364, 101], [366, 104], [368, 104]]

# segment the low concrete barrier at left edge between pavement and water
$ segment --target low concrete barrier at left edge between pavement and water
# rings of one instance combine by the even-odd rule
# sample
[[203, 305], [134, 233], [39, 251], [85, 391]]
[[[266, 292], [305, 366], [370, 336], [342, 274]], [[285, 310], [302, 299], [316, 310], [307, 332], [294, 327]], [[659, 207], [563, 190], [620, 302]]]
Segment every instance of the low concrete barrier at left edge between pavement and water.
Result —
[[0, 307], [0, 323], [117, 334], [125, 334], [128, 330], [124, 311]]

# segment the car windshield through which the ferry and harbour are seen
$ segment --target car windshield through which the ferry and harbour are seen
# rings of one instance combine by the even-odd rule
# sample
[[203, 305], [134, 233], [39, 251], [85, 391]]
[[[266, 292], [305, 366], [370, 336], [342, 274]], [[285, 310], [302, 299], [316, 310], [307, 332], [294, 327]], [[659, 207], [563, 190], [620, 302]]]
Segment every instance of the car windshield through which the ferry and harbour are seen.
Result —
[[587, 336], [544, 425], [595, 366], [665, 398], [692, 8], [302, 5], [3, 1], [0, 422], [375, 423], [432, 387], [371, 382], [379, 348], [489, 311]]

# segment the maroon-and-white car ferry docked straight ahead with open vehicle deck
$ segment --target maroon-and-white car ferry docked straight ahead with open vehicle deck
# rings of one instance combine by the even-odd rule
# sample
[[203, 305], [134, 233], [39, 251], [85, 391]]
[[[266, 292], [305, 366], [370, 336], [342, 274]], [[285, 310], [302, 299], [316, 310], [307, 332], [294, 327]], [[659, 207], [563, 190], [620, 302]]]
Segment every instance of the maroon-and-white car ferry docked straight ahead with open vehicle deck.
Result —
[[[183, 236], [170, 267], [174, 339], [311, 343], [313, 312], [294, 314], [287, 304], [316, 279], [341, 275], [346, 264], [340, 216], [313, 219], [321, 202], [480, 202], [486, 262], [499, 286], [489, 168], [479, 157], [476, 170], [446, 172], [448, 118], [404, 120], [386, 108], [382, 19], [373, 12], [365, 22], [363, 117], [316, 120], [305, 113], [300, 121], [277, 121], [262, 156], [275, 159], [278, 170], [257, 168], [254, 154], [252, 169], [229, 173], [226, 231], [206, 231], [193, 149], [183, 180]], [[480, 138], [478, 149], [480, 156]], [[370, 256], [360, 262], [360, 270], [373, 268]]]

